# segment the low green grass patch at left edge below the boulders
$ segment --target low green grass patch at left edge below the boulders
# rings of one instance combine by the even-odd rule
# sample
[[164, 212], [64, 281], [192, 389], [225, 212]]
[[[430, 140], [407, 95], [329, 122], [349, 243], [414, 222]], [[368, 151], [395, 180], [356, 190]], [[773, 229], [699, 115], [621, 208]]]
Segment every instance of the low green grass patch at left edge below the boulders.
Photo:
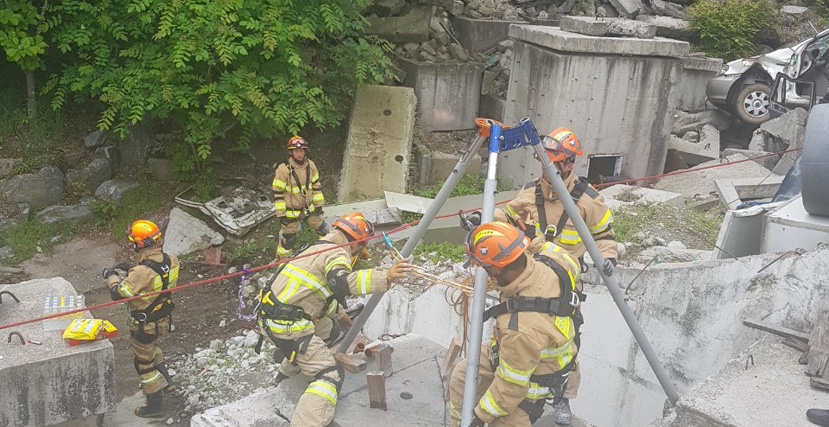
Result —
[[[0, 234], [0, 246], [8, 246], [14, 252], [14, 263], [25, 261], [35, 255], [37, 247], [49, 251], [61, 241], [73, 236], [77, 227], [71, 223], [44, 224], [35, 218], [20, 221]], [[58, 237], [54, 239], [54, 237]]]

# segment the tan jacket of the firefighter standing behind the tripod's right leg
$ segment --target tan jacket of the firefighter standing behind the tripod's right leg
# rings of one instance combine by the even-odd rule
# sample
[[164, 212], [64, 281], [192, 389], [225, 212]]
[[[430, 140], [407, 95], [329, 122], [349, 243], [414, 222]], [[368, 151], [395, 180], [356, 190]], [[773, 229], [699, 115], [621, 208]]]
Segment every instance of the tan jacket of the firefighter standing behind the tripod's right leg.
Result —
[[[564, 180], [564, 184], [571, 194], [577, 182], [576, 175], [572, 173]], [[558, 199], [552, 185], [542, 178], [537, 178], [524, 185], [524, 188], [518, 192], [515, 199], [507, 203], [506, 209], [496, 209], [494, 215], [495, 221], [515, 223], [515, 220], [521, 219], [527, 226], [535, 226], [535, 238], [532, 239], [528, 248], [528, 252], [531, 253], [541, 250], [547, 242], [544, 236], [545, 230], [542, 230], [538, 214], [536, 196], [539, 189], [544, 202], [547, 226], [558, 228], [559, 220], [565, 213], [564, 205]], [[617, 258], [616, 236], [612, 228], [613, 214], [605, 205], [604, 197], [587, 184], [584, 193], [576, 201], [576, 207], [587, 224], [587, 228], [590, 229], [593, 239], [596, 240], [602, 256]], [[574, 258], [581, 258], [584, 255], [587, 249], [573, 225], [572, 218], [568, 216], [561, 230], [557, 230], [556, 233], [557, 237], [553, 239], [553, 243], [564, 248]]]

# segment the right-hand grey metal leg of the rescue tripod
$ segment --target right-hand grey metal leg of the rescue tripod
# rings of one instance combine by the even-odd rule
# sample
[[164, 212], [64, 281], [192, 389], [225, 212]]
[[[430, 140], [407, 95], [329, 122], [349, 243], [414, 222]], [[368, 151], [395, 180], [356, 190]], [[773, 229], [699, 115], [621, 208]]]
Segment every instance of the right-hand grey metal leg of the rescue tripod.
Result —
[[648, 359], [648, 363], [651, 365], [653, 373], [656, 374], [659, 384], [662, 386], [662, 389], [665, 391], [665, 394], [668, 396], [671, 403], [675, 405], [676, 401], [679, 400], [679, 394], [676, 392], [676, 387], [668, 377], [668, 373], [665, 371], [665, 367], [662, 366], [662, 362], [660, 362], [659, 358], [656, 356], [656, 352], [653, 350], [653, 347], [651, 347], [648, 337], [645, 336], [642, 326], [640, 326], [639, 321], [636, 320], [636, 315], [633, 314], [633, 310], [630, 309], [630, 306], [628, 306], [625, 301], [625, 295], [622, 293], [622, 290], [619, 289], [617, 275], [613, 274], [615, 270], [612, 268], [612, 264], [610, 275], [605, 274], [605, 259], [602, 257], [599, 247], [596, 245], [596, 241], [593, 240], [593, 235], [590, 234], [587, 224], [584, 223], [584, 218], [581, 217], [575, 202], [573, 202], [573, 199], [570, 197], [570, 192], [567, 190], [567, 186], [564, 185], [564, 181], [562, 181], [561, 176], [559, 176], [558, 171], [553, 165], [553, 162], [551, 162], [550, 158], [547, 157], [547, 153], [544, 152], [541, 145], [536, 144], [533, 148], [535, 149], [535, 153], [543, 166], [544, 176], [546, 176], [547, 180], [552, 184], [553, 189], [558, 195], [558, 199], [561, 200], [564, 205], [564, 210], [567, 211], [567, 215], [570, 216], [570, 219], [573, 221], [573, 225], [576, 226], [576, 230], [578, 230], [579, 236], [581, 236], [581, 240], [587, 248], [587, 252], [590, 253], [590, 258], [593, 259], [593, 264], [596, 266], [596, 270], [598, 270], [599, 275], [602, 276], [602, 280], [604, 280], [607, 289], [610, 291], [613, 301], [616, 303], [616, 306], [619, 307], [619, 311], [622, 312], [622, 317], [625, 318], [625, 322], [628, 324], [628, 328], [630, 328], [630, 331], [633, 333], [633, 337], [642, 349], [642, 353], [645, 355], [645, 358]]

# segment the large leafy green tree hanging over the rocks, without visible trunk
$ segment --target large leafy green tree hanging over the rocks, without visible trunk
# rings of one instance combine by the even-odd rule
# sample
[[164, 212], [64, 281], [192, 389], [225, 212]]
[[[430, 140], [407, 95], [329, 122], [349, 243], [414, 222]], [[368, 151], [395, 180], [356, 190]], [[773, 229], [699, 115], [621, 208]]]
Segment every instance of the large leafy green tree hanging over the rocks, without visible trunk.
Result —
[[387, 42], [363, 35], [369, 0], [62, 0], [52, 42], [68, 54], [53, 107], [98, 99], [101, 129], [182, 132], [179, 171], [207, 167], [230, 130], [253, 136], [339, 123], [355, 85], [389, 76]]

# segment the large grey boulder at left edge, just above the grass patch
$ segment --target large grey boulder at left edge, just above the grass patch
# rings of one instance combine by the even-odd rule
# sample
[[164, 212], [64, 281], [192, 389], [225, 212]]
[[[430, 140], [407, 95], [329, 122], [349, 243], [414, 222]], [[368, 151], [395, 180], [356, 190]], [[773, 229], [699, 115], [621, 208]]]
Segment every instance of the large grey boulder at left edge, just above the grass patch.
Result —
[[46, 166], [36, 174], [15, 175], [0, 187], [0, 194], [7, 202], [42, 208], [63, 199], [63, 173], [56, 167]]

